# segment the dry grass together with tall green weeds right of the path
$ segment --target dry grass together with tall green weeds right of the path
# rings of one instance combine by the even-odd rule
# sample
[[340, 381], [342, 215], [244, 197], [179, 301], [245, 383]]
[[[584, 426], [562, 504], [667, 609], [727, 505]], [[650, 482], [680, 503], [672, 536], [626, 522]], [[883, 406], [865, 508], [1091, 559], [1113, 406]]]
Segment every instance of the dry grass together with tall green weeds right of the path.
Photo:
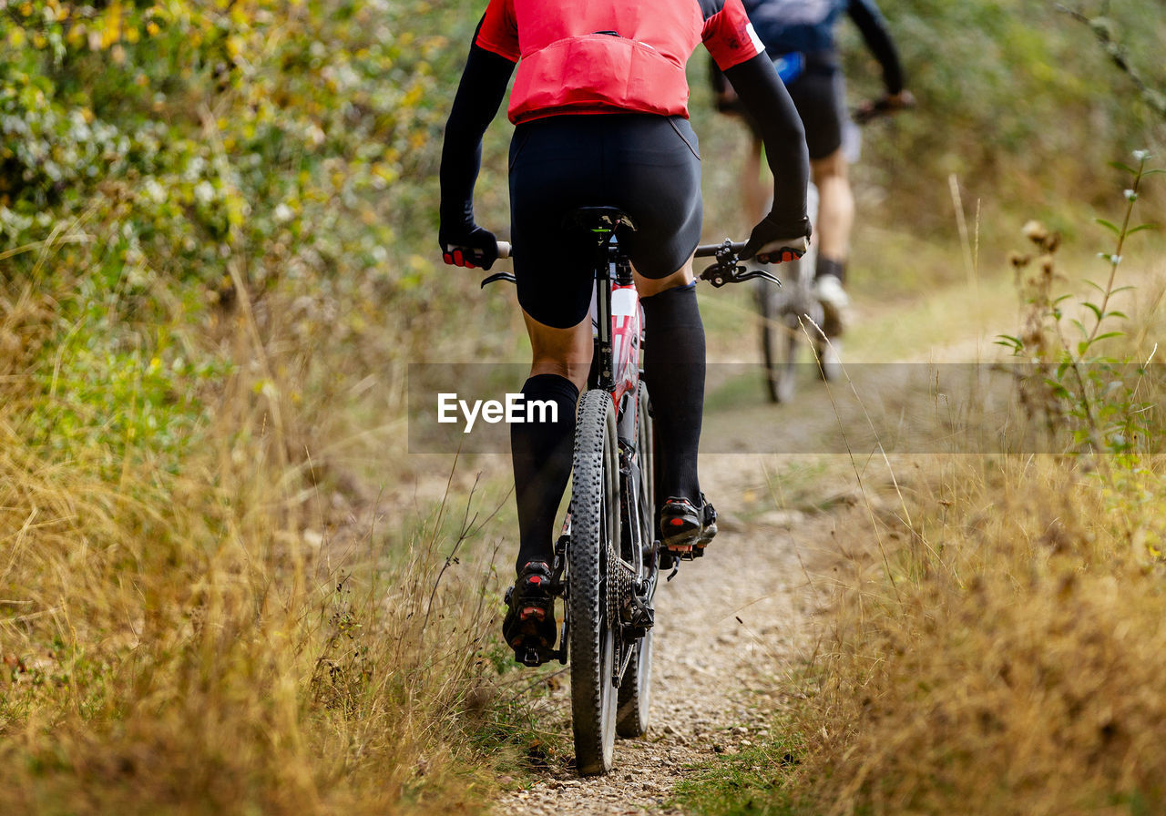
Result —
[[1027, 251], [1011, 258], [1021, 322], [997, 342], [1019, 364], [1013, 421], [1026, 432], [991, 455], [886, 460], [908, 486], [864, 493], [868, 512], [837, 534], [847, 543], [807, 556], [833, 603], [807, 670], [781, 681], [777, 736], [684, 783], [686, 807], [1166, 807], [1166, 378], [1154, 363], [1166, 269], [1151, 261], [1146, 275], [1133, 248], [1153, 226], [1137, 217], [1163, 173], [1150, 160], [1136, 152], [1119, 168], [1123, 206], [1101, 219], [1111, 248], [1083, 295], [1063, 291], [1082, 276], [1061, 268], [1061, 237], [1025, 226]]

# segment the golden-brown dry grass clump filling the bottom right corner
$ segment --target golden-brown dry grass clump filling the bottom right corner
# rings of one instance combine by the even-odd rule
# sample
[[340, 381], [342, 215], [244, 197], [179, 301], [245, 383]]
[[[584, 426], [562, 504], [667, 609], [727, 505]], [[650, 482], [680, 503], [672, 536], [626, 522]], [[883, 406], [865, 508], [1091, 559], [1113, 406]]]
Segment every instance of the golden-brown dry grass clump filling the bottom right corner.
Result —
[[1119, 532], [1052, 458], [941, 477], [892, 520], [893, 583], [868, 565], [840, 593], [794, 787], [814, 813], [1159, 813], [1166, 588], [1138, 540], [1160, 516]]

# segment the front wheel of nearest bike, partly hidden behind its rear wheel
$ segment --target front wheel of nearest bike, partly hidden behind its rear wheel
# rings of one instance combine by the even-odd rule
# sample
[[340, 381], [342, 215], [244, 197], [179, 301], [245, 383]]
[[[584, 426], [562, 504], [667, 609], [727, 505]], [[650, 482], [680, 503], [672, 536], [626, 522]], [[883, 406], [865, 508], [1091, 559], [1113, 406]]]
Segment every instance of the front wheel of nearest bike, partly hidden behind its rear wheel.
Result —
[[[652, 436], [652, 414], [649, 409], [647, 386], [640, 382], [637, 401], [639, 410], [639, 431], [637, 434], [637, 450], [639, 451], [640, 478], [639, 478], [639, 519], [640, 540], [652, 543], [655, 540], [655, 450]], [[625, 536], [632, 541], [631, 536]], [[630, 553], [624, 557], [631, 561]], [[654, 564], [647, 563], [645, 555], [645, 572], [641, 576], [648, 581], [647, 602], [651, 604], [655, 596], [656, 577], [659, 575]], [[648, 709], [652, 703], [652, 632], [648, 629], [641, 638], [630, 646], [632, 656], [624, 671], [624, 678], [619, 684], [619, 703], [616, 717], [616, 733], [620, 737], [642, 737], [648, 730]]]

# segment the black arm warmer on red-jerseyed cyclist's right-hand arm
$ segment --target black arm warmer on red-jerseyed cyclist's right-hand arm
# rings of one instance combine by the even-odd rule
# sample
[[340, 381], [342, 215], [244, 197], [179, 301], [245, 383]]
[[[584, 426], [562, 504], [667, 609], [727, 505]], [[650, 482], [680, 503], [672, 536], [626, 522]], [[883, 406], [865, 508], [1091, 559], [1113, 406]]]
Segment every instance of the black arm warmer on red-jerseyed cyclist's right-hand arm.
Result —
[[725, 71], [725, 77], [761, 132], [765, 159], [773, 171], [773, 210], [770, 213], [773, 223], [782, 227], [784, 238], [805, 235], [809, 154], [798, 108], [765, 54], [733, 65]]

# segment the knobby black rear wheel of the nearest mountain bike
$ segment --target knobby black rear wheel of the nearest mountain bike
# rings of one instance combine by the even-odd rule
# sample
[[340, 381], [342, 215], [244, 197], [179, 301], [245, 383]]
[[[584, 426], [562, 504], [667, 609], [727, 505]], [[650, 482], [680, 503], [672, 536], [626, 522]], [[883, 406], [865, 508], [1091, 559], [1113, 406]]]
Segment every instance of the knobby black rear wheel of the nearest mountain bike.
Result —
[[618, 689], [607, 564], [619, 541], [619, 459], [611, 395], [583, 394], [575, 429], [571, 537], [567, 548], [571, 719], [581, 774], [611, 769]]

